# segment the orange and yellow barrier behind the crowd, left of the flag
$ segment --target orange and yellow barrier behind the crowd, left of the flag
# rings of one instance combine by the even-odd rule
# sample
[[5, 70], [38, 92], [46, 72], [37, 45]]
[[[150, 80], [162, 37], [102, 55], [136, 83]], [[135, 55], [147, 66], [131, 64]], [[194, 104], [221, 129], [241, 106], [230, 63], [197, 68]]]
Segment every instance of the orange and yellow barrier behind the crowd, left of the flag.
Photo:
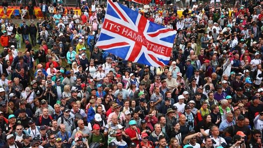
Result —
[[[73, 8], [73, 11], [77, 11], [79, 14], [81, 14], [81, 10], [80, 9], [76, 9], [75, 7], [68, 7], [68, 9], [70, 10], [71, 8]], [[11, 18], [11, 16], [12, 15], [14, 15], [14, 10], [19, 10], [19, 12], [20, 12], [20, 14], [21, 14], [21, 10], [20, 10], [20, 8], [19, 7], [8, 7], [7, 8], [7, 13], [6, 13], [6, 15], [4, 15], [4, 13], [3, 13], [3, 8], [2, 7], [0, 7], [0, 16], [2, 17], [2, 18]], [[67, 8], [65, 8], [65, 11], [64, 11], [64, 13], [67, 13]], [[34, 8], [34, 14], [35, 14], [35, 16], [36, 16], [36, 18], [43, 18], [43, 14], [42, 14], [42, 12], [41, 12], [41, 10], [40, 10], [40, 7], [35, 7]]]

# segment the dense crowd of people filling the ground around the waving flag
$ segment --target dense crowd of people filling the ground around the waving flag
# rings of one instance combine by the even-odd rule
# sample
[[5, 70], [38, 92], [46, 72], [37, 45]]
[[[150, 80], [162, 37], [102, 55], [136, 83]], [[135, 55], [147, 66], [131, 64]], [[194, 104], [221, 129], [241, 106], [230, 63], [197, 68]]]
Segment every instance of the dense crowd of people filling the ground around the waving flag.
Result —
[[177, 31], [164, 67], [94, 46], [105, 2], [61, 1], [0, 18], [0, 148], [263, 148], [260, 0], [124, 1]]

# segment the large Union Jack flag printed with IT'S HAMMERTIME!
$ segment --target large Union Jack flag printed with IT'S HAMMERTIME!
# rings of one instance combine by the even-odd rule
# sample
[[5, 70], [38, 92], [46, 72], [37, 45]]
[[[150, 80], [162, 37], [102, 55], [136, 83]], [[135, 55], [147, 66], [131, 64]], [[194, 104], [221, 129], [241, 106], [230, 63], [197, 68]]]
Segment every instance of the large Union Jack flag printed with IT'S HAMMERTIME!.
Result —
[[150, 22], [138, 12], [108, 0], [100, 49], [125, 60], [159, 67], [169, 63], [175, 31]]

